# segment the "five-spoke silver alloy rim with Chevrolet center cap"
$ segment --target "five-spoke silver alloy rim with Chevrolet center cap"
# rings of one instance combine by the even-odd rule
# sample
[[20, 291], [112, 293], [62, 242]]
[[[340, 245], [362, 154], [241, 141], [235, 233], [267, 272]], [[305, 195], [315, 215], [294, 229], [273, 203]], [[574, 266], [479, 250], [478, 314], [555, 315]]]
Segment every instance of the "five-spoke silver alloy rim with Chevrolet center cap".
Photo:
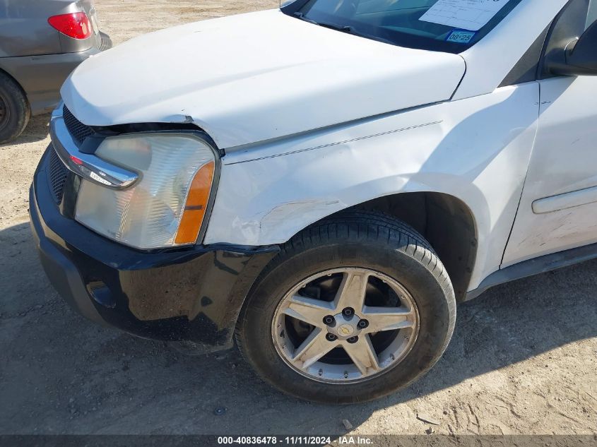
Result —
[[419, 316], [403, 285], [367, 268], [306, 278], [283, 297], [272, 321], [280, 357], [326, 383], [365, 381], [394, 368], [413, 347]]

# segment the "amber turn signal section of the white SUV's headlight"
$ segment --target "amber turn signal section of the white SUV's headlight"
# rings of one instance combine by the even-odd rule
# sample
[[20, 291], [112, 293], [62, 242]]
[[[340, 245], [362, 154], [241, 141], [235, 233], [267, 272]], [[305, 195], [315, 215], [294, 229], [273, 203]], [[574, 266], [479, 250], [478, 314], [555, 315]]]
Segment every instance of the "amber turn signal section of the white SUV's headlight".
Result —
[[187, 203], [184, 205], [184, 212], [176, 234], [175, 242], [177, 244], [194, 244], [199, 237], [199, 230], [203, 224], [203, 217], [205, 217], [211, 193], [214, 168], [214, 162], [203, 165], [191, 182]]

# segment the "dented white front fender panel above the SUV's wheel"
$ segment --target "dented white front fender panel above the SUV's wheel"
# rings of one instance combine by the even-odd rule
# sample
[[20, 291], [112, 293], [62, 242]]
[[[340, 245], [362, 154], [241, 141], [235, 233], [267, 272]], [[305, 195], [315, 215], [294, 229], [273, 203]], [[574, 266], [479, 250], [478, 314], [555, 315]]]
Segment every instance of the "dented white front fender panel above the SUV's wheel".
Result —
[[434, 191], [459, 198], [473, 213], [479, 247], [473, 289], [500, 267], [536, 134], [538, 97], [536, 83], [509, 86], [229, 152], [205, 243], [280, 244], [338, 210]]

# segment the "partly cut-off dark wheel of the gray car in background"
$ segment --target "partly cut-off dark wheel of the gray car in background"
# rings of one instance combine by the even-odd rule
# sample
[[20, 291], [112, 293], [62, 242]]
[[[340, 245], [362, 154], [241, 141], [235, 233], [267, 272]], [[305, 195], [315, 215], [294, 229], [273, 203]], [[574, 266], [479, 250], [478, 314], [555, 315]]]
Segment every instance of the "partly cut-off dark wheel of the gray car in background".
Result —
[[23, 133], [30, 115], [29, 102], [20, 85], [0, 72], [0, 144]]

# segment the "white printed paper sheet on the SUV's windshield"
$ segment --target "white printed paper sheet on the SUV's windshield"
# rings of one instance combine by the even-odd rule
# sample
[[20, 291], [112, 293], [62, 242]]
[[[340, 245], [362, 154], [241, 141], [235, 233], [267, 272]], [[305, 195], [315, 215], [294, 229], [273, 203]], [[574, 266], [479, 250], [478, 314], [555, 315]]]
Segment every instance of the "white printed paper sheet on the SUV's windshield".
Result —
[[478, 31], [509, 0], [437, 0], [419, 20], [462, 30]]

